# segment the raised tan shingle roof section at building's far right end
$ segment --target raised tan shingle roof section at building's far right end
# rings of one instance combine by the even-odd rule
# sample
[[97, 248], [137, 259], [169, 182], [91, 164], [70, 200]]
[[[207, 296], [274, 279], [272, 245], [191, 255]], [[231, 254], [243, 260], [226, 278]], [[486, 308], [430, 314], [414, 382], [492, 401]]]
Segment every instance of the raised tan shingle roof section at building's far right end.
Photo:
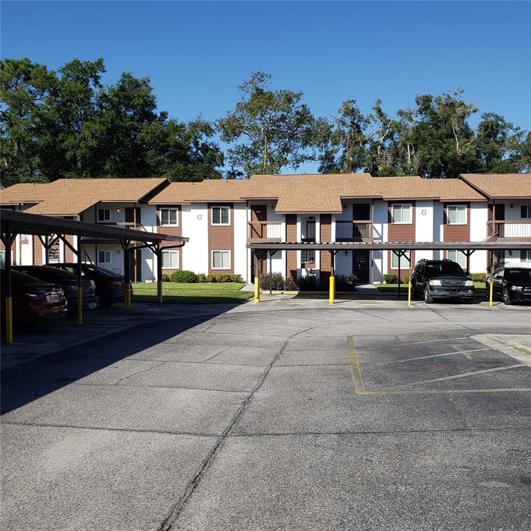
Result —
[[531, 174], [461, 174], [460, 178], [492, 199], [531, 198]]

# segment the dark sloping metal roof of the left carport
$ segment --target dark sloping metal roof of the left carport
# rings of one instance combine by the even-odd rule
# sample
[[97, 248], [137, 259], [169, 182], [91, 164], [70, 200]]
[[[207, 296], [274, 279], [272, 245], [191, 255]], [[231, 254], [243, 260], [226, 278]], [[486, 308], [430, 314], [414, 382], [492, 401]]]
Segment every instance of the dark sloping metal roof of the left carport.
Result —
[[175, 241], [187, 242], [184, 236], [172, 236], [160, 232], [146, 232], [132, 230], [100, 223], [87, 223], [75, 219], [57, 218], [54, 216], [41, 216], [40, 214], [27, 214], [15, 210], [0, 209], [1, 232], [10, 230], [19, 234], [68, 234], [74, 236], [93, 236], [96, 238], [112, 238], [129, 241], [160, 242]]

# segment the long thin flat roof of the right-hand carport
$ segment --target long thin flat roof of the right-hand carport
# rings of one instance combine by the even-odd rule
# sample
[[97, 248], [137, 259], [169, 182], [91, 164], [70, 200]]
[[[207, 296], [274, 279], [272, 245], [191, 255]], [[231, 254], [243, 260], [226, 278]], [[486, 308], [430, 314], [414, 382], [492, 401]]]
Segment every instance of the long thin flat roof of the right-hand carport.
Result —
[[531, 249], [531, 241], [348, 241], [348, 242], [264, 242], [264, 243], [248, 243], [248, 249], [252, 250], [275, 250], [275, 251], [290, 251], [290, 250], [320, 250], [320, 251], [382, 251], [382, 250], [411, 250], [411, 251], [427, 251], [427, 250], [515, 250], [515, 249]]

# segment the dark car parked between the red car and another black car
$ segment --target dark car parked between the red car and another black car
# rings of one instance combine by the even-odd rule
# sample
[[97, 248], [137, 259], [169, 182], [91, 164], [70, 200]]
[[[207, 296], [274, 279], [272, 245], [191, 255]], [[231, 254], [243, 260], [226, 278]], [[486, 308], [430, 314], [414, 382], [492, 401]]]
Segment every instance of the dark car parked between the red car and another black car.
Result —
[[[29, 274], [43, 282], [53, 282], [62, 286], [68, 311], [77, 312], [77, 276], [67, 271], [51, 268], [49, 265], [13, 265], [13, 270]], [[84, 310], [97, 307], [96, 286], [91, 279], [82, 279], [82, 303]]]

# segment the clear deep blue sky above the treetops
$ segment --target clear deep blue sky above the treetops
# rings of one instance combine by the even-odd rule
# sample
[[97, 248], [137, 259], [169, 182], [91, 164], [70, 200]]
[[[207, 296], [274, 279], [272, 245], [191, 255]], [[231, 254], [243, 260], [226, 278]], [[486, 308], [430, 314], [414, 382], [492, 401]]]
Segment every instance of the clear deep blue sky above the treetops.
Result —
[[260, 70], [304, 91], [315, 115], [348, 99], [369, 111], [377, 97], [393, 113], [462, 87], [531, 129], [530, 26], [528, 1], [3, 1], [1, 55], [50, 68], [102, 56], [106, 80], [149, 76], [180, 120], [223, 115]]

